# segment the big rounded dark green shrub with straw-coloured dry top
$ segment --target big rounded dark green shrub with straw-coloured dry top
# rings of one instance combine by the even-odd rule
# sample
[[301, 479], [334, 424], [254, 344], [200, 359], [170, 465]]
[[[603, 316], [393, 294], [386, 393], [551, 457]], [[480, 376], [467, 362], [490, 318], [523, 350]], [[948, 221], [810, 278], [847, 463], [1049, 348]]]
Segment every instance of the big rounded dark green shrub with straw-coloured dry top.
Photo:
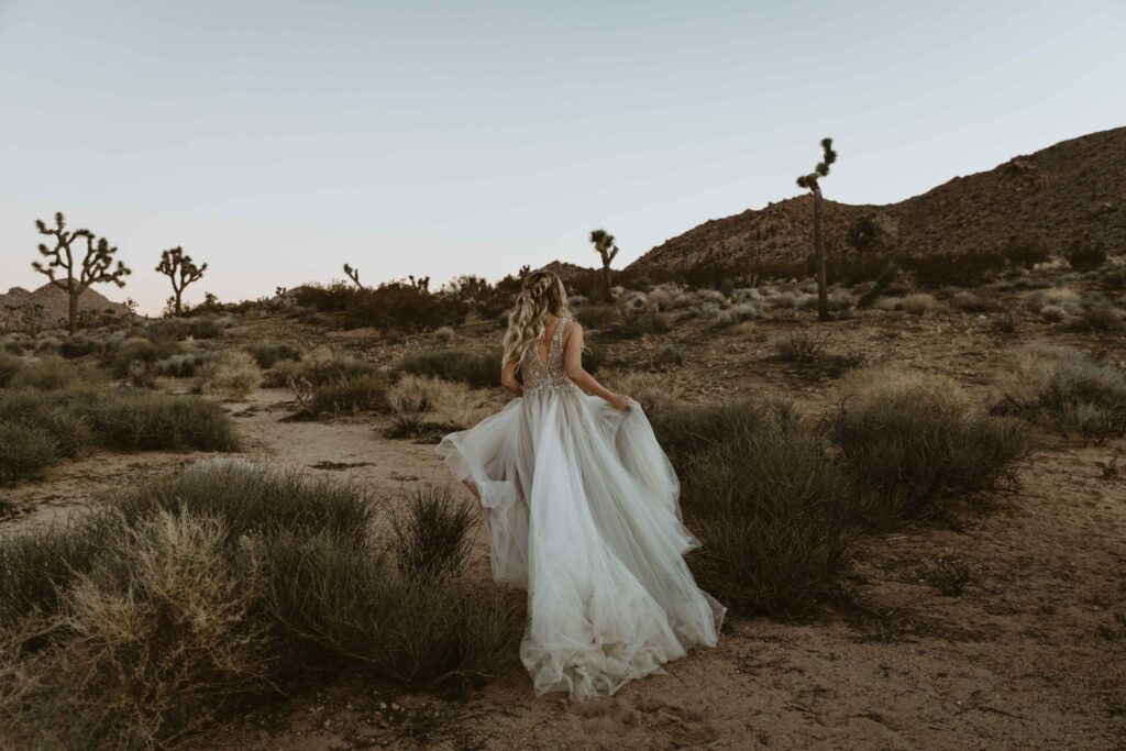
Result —
[[1029, 452], [1024, 422], [974, 412], [947, 378], [884, 370], [857, 373], [852, 383], [829, 435], [865, 499], [866, 524], [927, 516], [940, 499], [999, 490]]

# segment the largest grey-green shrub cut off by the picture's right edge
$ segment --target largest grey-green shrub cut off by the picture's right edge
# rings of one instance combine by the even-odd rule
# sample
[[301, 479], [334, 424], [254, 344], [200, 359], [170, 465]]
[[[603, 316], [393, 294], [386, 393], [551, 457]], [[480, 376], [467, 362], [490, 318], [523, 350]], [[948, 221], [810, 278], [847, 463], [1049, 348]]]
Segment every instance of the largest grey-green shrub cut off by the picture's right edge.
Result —
[[1001, 379], [1006, 406], [1088, 440], [1126, 435], [1126, 373], [1071, 347], [1027, 347]]

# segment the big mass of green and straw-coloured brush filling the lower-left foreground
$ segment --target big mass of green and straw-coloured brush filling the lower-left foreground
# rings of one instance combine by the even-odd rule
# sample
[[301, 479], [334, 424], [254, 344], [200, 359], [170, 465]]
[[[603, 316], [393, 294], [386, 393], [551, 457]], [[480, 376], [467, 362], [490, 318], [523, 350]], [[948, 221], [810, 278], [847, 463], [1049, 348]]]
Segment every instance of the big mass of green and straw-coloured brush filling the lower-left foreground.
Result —
[[354, 488], [208, 462], [3, 537], [0, 741], [167, 748], [324, 668], [410, 688], [507, 670], [518, 609], [456, 575], [472, 513], [437, 491], [409, 508], [379, 526]]

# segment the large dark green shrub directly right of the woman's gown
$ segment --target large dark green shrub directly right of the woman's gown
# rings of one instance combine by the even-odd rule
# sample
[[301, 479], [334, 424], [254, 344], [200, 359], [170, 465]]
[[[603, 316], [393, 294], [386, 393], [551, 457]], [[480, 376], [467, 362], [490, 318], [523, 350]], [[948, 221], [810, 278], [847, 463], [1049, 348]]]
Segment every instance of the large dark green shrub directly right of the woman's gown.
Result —
[[848, 483], [788, 406], [680, 408], [655, 427], [703, 543], [690, 562], [705, 590], [743, 614], [794, 616], [835, 589], [850, 547]]

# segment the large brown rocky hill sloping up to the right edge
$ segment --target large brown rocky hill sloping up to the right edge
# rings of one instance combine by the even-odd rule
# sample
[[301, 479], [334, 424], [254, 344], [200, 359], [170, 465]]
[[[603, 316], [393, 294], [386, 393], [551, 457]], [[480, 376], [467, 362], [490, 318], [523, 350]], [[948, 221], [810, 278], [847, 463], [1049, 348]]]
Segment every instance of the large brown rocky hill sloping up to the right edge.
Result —
[[[831, 184], [825, 187], [831, 194]], [[1108, 251], [1126, 251], [1126, 127], [1015, 157], [897, 204], [826, 200], [824, 208], [830, 253], [851, 250], [848, 229], [865, 214], [884, 227], [886, 249], [902, 256], [982, 250], [1010, 238], [1058, 250], [1078, 233]], [[712, 220], [652, 249], [628, 270], [801, 261], [813, 248], [812, 211], [806, 194]]]

